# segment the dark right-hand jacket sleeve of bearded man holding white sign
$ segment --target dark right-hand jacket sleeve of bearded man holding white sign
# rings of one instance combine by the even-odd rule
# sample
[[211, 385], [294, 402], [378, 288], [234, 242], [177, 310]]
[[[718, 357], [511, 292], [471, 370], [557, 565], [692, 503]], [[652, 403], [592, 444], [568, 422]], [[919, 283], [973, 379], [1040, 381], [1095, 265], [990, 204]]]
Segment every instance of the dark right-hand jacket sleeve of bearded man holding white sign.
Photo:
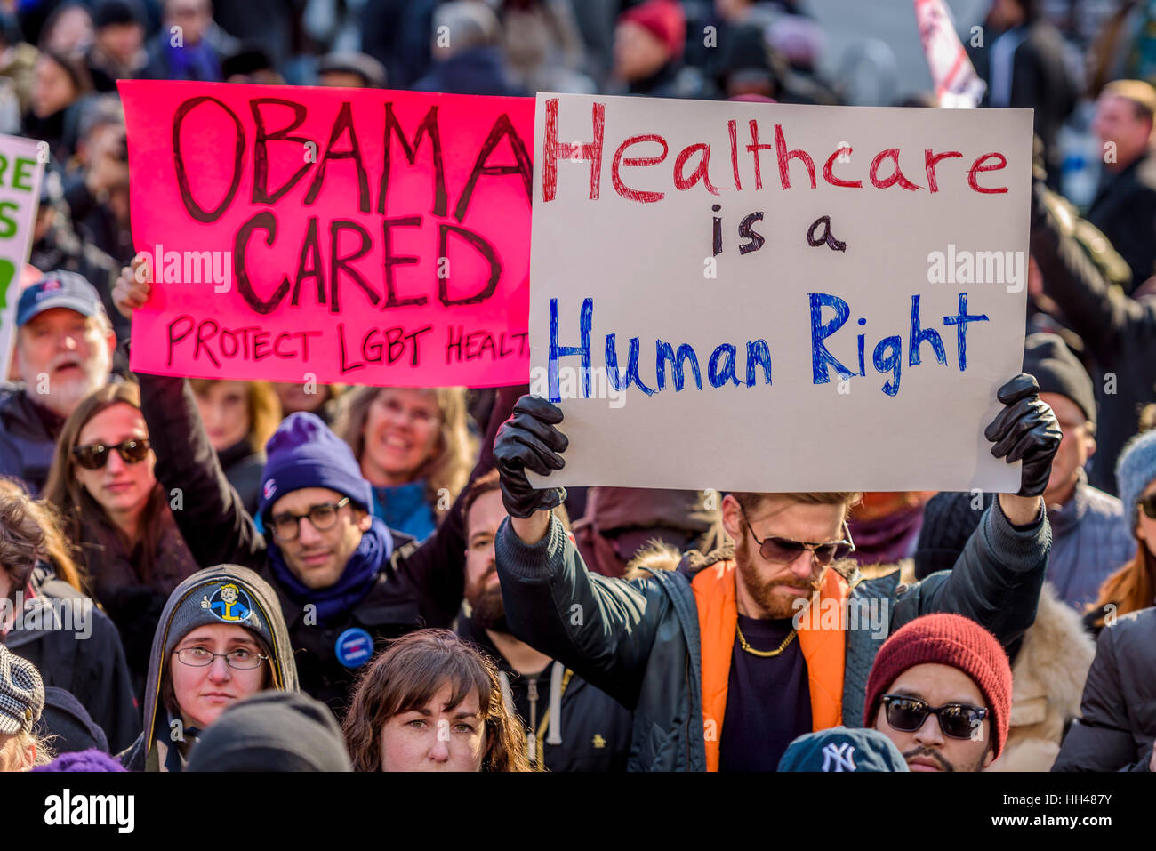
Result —
[[1007, 648], [1036, 621], [1052, 530], [1039, 512], [1031, 526], [1013, 526], [999, 500], [988, 508], [950, 571], [932, 574], [899, 597], [891, 628], [919, 615], [953, 612], [977, 621]]

